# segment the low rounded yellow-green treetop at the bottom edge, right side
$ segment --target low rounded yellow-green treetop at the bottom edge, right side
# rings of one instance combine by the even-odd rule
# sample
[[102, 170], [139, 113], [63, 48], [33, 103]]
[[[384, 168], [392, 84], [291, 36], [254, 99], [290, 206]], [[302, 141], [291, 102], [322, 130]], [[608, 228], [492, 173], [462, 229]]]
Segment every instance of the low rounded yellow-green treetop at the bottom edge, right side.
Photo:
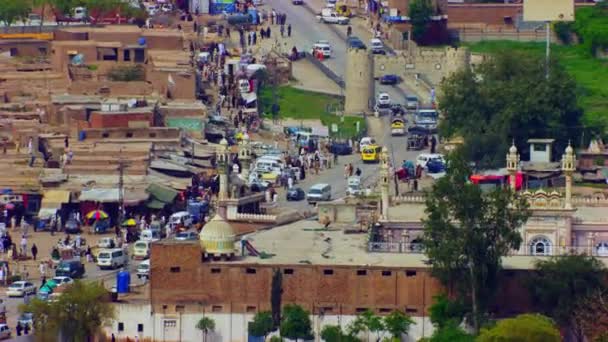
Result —
[[482, 329], [477, 342], [560, 342], [559, 330], [551, 319], [539, 314], [523, 314], [503, 319], [493, 328]]

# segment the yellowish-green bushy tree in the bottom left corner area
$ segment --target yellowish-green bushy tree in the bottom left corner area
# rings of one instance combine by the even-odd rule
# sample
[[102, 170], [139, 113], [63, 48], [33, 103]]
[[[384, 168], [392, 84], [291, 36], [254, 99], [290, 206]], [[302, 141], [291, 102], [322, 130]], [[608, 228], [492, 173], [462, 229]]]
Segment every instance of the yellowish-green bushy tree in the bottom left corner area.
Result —
[[54, 302], [33, 299], [20, 308], [34, 315], [39, 341], [80, 342], [98, 333], [114, 317], [108, 291], [100, 283], [76, 281]]

